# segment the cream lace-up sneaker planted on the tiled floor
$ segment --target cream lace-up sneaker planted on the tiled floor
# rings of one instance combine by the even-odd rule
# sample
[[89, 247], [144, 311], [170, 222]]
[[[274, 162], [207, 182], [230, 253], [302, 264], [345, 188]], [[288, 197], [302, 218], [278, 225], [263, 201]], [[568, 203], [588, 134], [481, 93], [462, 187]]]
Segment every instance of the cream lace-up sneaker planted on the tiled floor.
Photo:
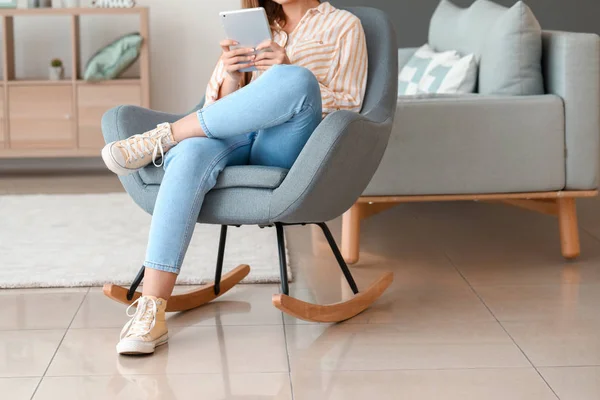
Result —
[[[135, 314], [129, 310], [136, 307]], [[131, 320], [121, 331], [121, 340], [117, 344], [119, 354], [151, 354], [154, 349], [169, 340], [169, 331], [165, 320], [167, 301], [153, 296], [137, 299], [127, 308]]]

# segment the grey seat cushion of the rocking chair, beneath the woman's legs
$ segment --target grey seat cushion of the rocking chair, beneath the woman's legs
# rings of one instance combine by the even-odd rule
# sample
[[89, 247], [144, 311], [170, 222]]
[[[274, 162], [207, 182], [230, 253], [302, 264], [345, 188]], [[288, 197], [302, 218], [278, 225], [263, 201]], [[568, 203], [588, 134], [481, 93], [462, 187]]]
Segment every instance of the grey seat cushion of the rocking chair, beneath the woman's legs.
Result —
[[[217, 185], [213, 190], [227, 188], [256, 188], [276, 189], [285, 179], [288, 170], [262, 165], [239, 165], [227, 167], [223, 170]], [[140, 177], [146, 185], [160, 185], [165, 171], [162, 168], [150, 166], [140, 171]]]

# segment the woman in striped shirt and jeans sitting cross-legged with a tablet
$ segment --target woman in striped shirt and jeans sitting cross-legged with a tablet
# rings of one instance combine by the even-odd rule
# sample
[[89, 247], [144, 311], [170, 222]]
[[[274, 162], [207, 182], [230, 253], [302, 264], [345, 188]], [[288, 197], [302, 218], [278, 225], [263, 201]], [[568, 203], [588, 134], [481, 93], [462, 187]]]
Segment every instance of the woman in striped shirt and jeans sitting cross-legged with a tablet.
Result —
[[[290, 168], [322, 118], [360, 111], [367, 49], [360, 20], [318, 0], [244, 0], [264, 7], [273, 41], [223, 54], [206, 105], [173, 124], [108, 144], [108, 168], [125, 175], [159, 167], [165, 176], [156, 200], [146, 254], [143, 296], [117, 345], [120, 354], [153, 353], [167, 342], [165, 308], [206, 193], [227, 166]], [[241, 69], [254, 66], [252, 74]], [[161, 164], [157, 160], [161, 159]], [[128, 314], [129, 315], [129, 314]]]

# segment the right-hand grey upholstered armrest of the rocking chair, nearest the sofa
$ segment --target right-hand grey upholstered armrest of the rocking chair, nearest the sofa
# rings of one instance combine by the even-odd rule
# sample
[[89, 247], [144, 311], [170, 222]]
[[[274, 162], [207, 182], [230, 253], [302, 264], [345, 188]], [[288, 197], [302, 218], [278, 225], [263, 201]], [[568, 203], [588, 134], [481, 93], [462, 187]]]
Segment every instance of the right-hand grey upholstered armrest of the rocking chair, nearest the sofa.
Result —
[[391, 125], [350, 111], [328, 115], [273, 192], [271, 220], [328, 221], [349, 209], [377, 170]]

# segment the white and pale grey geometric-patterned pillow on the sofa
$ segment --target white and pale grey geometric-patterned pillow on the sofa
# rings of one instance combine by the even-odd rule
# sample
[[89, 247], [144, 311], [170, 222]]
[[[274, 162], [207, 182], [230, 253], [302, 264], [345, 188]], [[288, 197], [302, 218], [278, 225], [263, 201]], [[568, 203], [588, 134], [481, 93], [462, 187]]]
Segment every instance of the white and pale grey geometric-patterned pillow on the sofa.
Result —
[[424, 45], [398, 75], [398, 95], [473, 93], [477, 86], [477, 61], [473, 54], [436, 53]]

